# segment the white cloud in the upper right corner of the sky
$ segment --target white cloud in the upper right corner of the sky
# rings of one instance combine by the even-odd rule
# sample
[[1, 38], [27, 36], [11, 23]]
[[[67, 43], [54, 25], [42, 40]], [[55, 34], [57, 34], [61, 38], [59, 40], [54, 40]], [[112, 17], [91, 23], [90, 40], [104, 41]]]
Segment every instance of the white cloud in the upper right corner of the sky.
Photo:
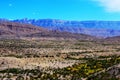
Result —
[[120, 0], [93, 0], [104, 7], [108, 12], [120, 12]]

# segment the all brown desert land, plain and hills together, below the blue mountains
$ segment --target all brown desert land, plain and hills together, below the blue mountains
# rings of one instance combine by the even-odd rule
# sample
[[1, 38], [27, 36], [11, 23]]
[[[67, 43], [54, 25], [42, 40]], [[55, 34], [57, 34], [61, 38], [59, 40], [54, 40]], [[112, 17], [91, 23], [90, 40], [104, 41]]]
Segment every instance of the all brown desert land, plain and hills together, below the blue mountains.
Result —
[[0, 80], [120, 80], [119, 36], [98, 39], [13, 22], [0, 27]]

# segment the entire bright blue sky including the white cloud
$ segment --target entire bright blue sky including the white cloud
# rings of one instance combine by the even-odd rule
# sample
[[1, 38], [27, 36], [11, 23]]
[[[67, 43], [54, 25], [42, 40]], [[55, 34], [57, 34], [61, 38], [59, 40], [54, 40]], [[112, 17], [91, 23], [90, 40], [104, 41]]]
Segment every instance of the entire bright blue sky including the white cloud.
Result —
[[120, 21], [120, 0], [1, 0], [0, 18]]

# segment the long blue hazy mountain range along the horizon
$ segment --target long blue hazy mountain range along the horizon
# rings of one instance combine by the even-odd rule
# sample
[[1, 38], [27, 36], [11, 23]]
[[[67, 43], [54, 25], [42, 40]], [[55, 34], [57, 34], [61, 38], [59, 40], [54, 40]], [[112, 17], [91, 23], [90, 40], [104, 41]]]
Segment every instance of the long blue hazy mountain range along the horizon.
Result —
[[18, 19], [13, 22], [29, 23], [49, 30], [83, 33], [97, 37], [120, 35], [120, 21], [65, 21], [55, 19]]

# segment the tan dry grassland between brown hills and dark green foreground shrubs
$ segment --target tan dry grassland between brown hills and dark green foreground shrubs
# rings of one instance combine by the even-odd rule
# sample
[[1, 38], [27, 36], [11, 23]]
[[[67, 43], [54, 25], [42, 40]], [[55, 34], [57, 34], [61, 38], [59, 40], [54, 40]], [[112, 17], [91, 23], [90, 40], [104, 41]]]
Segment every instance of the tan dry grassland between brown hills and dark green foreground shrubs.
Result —
[[77, 63], [67, 58], [120, 55], [118, 43], [77, 40], [0, 40], [0, 69], [63, 68]]

